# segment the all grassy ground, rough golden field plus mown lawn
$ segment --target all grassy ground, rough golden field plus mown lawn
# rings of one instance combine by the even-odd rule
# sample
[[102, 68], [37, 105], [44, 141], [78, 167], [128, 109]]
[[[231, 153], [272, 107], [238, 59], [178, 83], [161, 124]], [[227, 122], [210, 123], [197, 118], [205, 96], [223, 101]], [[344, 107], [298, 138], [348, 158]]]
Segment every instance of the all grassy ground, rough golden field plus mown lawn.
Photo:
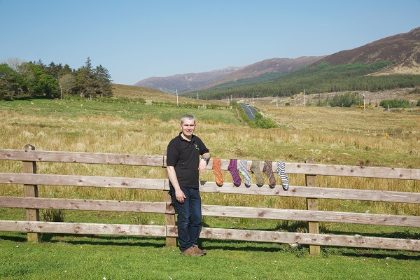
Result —
[[[132, 87], [129, 87], [132, 91]], [[127, 90], [127, 89], [126, 89]], [[117, 95], [117, 94], [116, 94]], [[134, 98], [151, 100], [134, 92]], [[163, 99], [165, 98], [165, 99]], [[162, 96], [163, 102], [174, 97]], [[159, 100], [158, 97], [156, 99]], [[190, 100], [183, 99], [182, 102]], [[203, 102], [205, 103], [205, 102]], [[179, 118], [197, 116], [197, 135], [212, 156], [248, 160], [420, 168], [420, 111], [260, 105], [280, 128], [248, 127], [235, 109], [183, 109], [147, 104], [71, 100], [0, 102], [0, 148], [162, 155], [179, 132]], [[160, 168], [39, 163], [41, 174], [90, 174], [162, 178]], [[0, 162], [1, 172], [21, 172], [19, 162]], [[228, 181], [229, 173], [225, 172]], [[419, 181], [346, 179], [319, 176], [318, 185], [420, 192]], [[203, 180], [214, 181], [212, 172]], [[304, 185], [304, 176], [290, 176]], [[162, 194], [141, 190], [82, 190], [40, 187], [40, 196], [106, 200], [161, 201]], [[0, 185], [0, 195], [22, 196], [22, 186]], [[203, 194], [204, 204], [305, 209], [304, 200], [286, 197]], [[319, 208], [419, 216], [418, 206], [321, 200]], [[25, 220], [21, 209], [0, 209], [1, 220]], [[42, 215], [41, 215], [42, 216]], [[163, 224], [163, 216], [66, 211], [66, 222]], [[303, 223], [204, 217], [211, 227], [304, 231]], [[419, 239], [419, 228], [321, 223], [321, 232]], [[322, 247], [310, 256], [306, 246], [203, 240], [203, 258], [180, 255], [165, 239], [43, 235], [41, 244], [25, 234], [0, 232], [0, 279], [416, 279], [420, 254], [357, 248]]]

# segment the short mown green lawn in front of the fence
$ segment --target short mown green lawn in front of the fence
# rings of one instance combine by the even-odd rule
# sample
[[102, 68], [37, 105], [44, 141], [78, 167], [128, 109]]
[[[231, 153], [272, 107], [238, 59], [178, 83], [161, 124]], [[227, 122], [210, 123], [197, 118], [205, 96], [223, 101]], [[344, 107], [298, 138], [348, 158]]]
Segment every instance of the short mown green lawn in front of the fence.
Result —
[[[45, 237], [44, 237], [45, 238]], [[204, 241], [204, 257], [181, 255], [165, 239], [52, 236], [41, 244], [0, 234], [0, 279], [416, 279], [419, 254]]]

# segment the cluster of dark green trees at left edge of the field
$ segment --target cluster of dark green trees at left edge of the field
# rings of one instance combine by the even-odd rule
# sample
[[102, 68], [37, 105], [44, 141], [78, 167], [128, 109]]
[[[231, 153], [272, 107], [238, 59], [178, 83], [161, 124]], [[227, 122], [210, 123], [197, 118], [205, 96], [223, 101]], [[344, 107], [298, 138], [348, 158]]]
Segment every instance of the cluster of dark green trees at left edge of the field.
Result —
[[22, 98], [113, 97], [111, 75], [102, 65], [93, 67], [90, 57], [85, 65], [71, 69], [51, 62], [20, 62], [9, 59], [0, 64], [0, 100]]

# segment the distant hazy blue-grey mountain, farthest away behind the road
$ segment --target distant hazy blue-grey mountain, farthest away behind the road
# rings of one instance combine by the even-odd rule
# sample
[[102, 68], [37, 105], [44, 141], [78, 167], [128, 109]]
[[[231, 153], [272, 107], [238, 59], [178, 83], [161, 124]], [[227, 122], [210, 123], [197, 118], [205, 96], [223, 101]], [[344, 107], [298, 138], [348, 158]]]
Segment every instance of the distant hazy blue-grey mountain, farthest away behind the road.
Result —
[[178, 92], [183, 92], [196, 87], [201, 87], [202, 85], [207, 85], [208, 83], [213, 83], [214, 80], [219, 80], [242, 68], [244, 67], [227, 67], [202, 73], [184, 73], [167, 77], [151, 77], [140, 80], [134, 85], [138, 87], [150, 87], [169, 94], [175, 94], [176, 90], [178, 90]]

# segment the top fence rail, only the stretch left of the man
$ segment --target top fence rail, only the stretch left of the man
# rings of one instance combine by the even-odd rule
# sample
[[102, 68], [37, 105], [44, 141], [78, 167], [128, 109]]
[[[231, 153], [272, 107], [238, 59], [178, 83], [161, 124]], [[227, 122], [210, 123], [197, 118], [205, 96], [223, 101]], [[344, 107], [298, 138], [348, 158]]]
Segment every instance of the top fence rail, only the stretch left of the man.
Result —
[[33, 162], [70, 162], [101, 165], [145, 165], [162, 167], [162, 155], [132, 155], [117, 153], [79, 153], [60, 151], [31, 151], [0, 149], [0, 160]]

